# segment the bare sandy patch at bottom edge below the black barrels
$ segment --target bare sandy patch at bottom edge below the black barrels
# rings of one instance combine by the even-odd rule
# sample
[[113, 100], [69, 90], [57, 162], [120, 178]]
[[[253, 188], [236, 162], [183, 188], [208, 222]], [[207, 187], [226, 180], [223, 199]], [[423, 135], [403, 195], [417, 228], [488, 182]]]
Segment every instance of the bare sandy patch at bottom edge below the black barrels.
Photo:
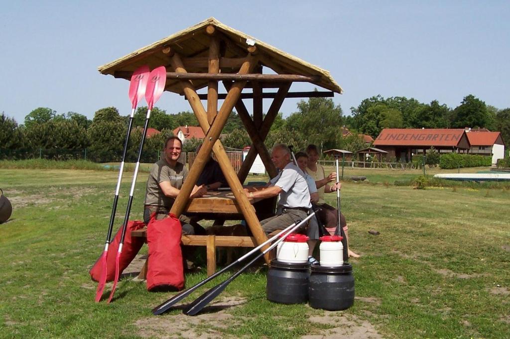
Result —
[[339, 312], [325, 312], [323, 316], [312, 316], [310, 321], [333, 325], [334, 328], [321, 331], [320, 334], [304, 335], [303, 339], [318, 338], [384, 338], [377, 332], [374, 325], [361, 320], [355, 315], [346, 315]]

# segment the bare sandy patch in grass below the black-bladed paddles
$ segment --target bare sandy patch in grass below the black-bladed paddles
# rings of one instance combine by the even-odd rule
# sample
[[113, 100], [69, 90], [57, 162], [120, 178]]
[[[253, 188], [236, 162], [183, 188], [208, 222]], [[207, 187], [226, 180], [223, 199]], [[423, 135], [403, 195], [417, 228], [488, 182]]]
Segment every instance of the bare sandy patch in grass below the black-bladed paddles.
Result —
[[182, 313], [139, 319], [135, 326], [144, 338], [215, 338], [224, 337], [222, 328], [235, 326], [241, 320], [226, 311], [247, 301], [242, 297], [228, 297], [211, 303], [195, 317]]

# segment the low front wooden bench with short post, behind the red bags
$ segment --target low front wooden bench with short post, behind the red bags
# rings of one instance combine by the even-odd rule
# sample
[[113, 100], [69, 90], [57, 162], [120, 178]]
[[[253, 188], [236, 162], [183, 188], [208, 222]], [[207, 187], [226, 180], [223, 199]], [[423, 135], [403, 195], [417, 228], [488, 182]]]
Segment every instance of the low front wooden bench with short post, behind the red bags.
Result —
[[[279, 231], [275, 231], [276, 233]], [[271, 233], [270, 236], [276, 234]], [[132, 237], [147, 238], [147, 228], [133, 231]], [[207, 275], [210, 276], [216, 272], [216, 246], [222, 247], [256, 247], [257, 242], [254, 237], [238, 237], [238, 236], [215, 236], [215, 235], [183, 235], [181, 238], [183, 245], [206, 246], [207, 251]], [[143, 265], [138, 277], [145, 279], [147, 274], [147, 261]]]

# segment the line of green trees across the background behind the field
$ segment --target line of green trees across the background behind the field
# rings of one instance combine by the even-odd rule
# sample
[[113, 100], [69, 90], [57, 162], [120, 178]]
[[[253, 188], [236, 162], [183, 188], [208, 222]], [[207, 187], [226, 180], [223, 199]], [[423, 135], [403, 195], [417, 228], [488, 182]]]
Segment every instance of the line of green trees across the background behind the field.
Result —
[[[340, 105], [329, 98], [309, 98], [297, 104], [297, 110], [287, 118], [280, 112], [271, 126], [265, 144], [269, 149], [275, 143], [294, 145], [296, 150], [308, 144], [316, 144], [322, 150], [340, 148], [351, 152], [367, 145], [359, 134], [377, 137], [383, 128], [488, 128], [502, 133], [503, 140], [510, 140], [510, 108], [498, 109], [487, 105], [473, 95], [464, 97], [455, 108], [433, 100], [429, 104], [405, 97], [384, 98], [380, 95], [364, 99], [358, 107], [351, 107], [351, 115], [344, 116]], [[134, 116], [127, 160], [134, 161], [138, 154], [142, 128], [147, 107], [139, 107]], [[119, 161], [129, 116], [121, 116], [115, 107], [97, 110], [92, 120], [77, 112], [57, 114], [51, 108], [39, 107], [31, 111], [24, 124], [0, 115], [0, 152], [3, 157], [27, 156], [16, 150], [67, 150], [87, 149], [87, 158], [98, 161]], [[154, 107], [149, 127], [161, 131], [146, 139], [142, 161], [157, 159], [166, 137], [173, 135], [178, 126], [198, 126], [192, 112], [167, 114]], [[342, 135], [342, 127], [350, 129], [350, 135]], [[226, 122], [221, 136], [223, 145], [241, 149], [251, 144], [241, 122], [233, 112]], [[199, 140], [187, 140], [184, 151], [194, 151]], [[11, 153], [9, 153], [9, 150]], [[81, 154], [81, 153], [80, 153]], [[82, 154], [83, 155], [83, 154]]]

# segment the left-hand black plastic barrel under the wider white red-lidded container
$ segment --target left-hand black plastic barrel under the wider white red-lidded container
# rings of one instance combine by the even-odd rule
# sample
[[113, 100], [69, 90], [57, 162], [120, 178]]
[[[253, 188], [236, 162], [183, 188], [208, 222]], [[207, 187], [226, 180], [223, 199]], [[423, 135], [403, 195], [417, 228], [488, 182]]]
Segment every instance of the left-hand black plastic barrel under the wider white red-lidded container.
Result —
[[300, 304], [308, 301], [310, 263], [292, 264], [271, 261], [267, 272], [267, 300], [282, 304]]

